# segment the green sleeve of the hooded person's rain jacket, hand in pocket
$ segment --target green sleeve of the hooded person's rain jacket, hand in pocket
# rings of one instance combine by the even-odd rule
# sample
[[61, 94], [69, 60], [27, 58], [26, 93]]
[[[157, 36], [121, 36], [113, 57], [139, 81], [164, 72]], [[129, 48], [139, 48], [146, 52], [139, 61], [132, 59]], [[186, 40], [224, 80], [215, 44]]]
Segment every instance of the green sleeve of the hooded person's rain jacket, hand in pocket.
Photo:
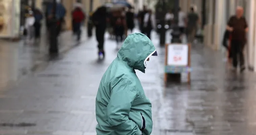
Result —
[[137, 90], [129, 86], [127, 80], [123, 79], [111, 90], [110, 101], [107, 105], [107, 120], [109, 126], [117, 132], [127, 135], [141, 135], [137, 124], [128, 118], [131, 105], [137, 96]]

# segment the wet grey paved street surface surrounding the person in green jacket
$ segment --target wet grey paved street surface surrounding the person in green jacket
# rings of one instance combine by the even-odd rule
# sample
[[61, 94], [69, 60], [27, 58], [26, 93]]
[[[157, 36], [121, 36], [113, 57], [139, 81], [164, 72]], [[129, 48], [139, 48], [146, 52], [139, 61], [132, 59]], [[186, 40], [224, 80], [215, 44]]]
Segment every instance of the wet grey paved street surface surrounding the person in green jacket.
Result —
[[[157, 36], [153, 38], [159, 56], [150, 58], [146, 74], [137, 72], [152, 102], [152, 135], [255, 134], [254, 73], [231, 72], [220, 52], [198, 44], [191, 52], [191, 84], [183, 81], [164, 87], [164, 48], [158, 47]], [[104, 61], [97, 60], [94, 37], [67, 45], [68, 51], [53, 60], [46, 58], [46, 53], [38, 58], [36, 51], [23, 53], [24, 61], [32, 61], [28, 64], [1, 60], [9, 65], [1, 68], [1, 75], [8, 73], [2, 78], [19, 80], [0, 88], [1, 135], [96, 135], [95, 96], [103, 73], [116, 57], [116, 43], [106, 40]], [[6, 48], [15, 54], [13, 48]], [[20, 54], [11, 56], [17, 59]], [[28, 68], [34, 65], [34, 70]], [[15, 66], [30, 72], [23, 78], [14, 77], [22, 74]]]

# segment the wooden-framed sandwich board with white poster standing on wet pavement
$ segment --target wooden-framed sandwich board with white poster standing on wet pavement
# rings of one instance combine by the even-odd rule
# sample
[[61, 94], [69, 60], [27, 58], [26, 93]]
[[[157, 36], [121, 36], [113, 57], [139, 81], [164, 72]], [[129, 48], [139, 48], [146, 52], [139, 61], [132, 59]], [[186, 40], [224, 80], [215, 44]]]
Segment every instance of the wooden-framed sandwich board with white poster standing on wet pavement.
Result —
[[188, 74], [190, 82], [190, 44], [167, 44], [165, 45], [165, 75], [167, 82], [168, 74]]

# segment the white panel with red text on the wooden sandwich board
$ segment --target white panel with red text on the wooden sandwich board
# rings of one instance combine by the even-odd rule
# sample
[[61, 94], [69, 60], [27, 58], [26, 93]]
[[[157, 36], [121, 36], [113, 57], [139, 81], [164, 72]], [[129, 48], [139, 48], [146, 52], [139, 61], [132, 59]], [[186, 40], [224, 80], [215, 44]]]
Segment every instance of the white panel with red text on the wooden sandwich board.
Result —
[[187, 66], [188, 64], [188, 45], [171, 44], [167, 48], [167, 65]]

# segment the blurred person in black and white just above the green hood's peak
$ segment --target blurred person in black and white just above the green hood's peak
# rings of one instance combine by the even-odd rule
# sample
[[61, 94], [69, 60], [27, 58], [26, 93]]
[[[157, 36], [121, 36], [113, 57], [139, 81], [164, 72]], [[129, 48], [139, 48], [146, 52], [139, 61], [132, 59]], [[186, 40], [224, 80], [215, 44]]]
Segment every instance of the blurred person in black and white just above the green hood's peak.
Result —
[[145, 34], [151, 39], [151, 31], [155, 29], [156, 21], [155, 16], [152, 13], [152, 10], [149, 9], [148, 13], [144, 16], [144, 30]]

